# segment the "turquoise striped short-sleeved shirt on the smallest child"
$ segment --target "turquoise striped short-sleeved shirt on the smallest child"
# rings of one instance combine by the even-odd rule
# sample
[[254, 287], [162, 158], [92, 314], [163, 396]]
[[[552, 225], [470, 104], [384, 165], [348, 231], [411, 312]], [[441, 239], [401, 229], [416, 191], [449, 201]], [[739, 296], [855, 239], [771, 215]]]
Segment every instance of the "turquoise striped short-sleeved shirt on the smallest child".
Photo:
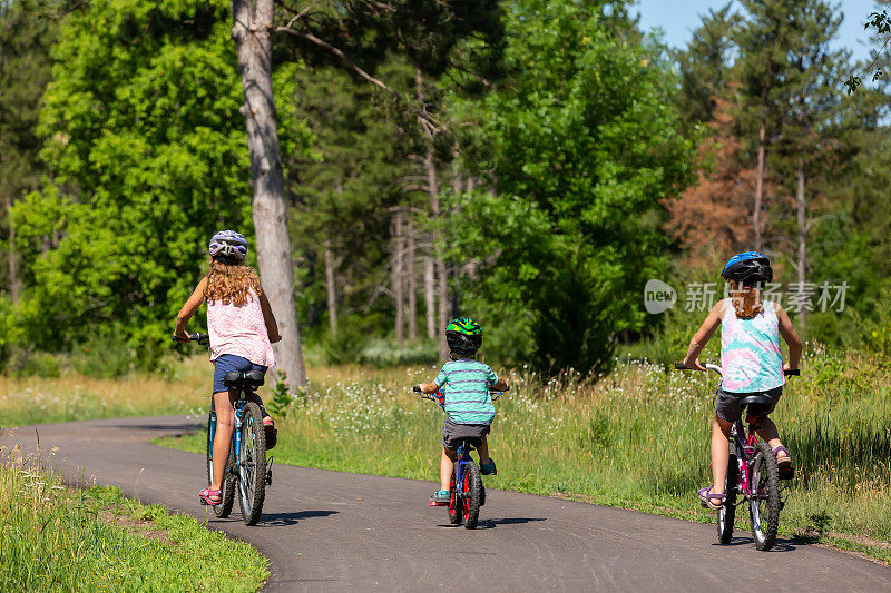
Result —
[[437, 375], [437, 387], [446, 398], [446, 412], [456, 424], [491, 424], [495, 406], [489, 387], [498, 383], [498, 375], [472, 358], [450, 360]]

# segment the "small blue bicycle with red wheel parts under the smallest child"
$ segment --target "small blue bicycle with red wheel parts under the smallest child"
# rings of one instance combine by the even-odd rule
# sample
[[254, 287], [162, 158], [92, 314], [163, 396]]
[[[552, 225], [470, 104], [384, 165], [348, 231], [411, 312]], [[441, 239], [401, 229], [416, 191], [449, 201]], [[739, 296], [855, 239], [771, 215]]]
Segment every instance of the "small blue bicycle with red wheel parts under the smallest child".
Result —
[[[417, 385], [412, 391], [421, 394], [423, 399], [435, 402], [443, 412], [446, 411], [442, 392], [425, 394]], [[492, 402], [497, 401], [500, 395], [500, 392], [492, 392]], [[468, 530], [477, 527], [480, 507], [486, 504], [486, 487], [482, 485], [480, 468], [470, 456], [470, 452], [478, 444], [474, 441], [474, 438], [463, 438], [458, 442], [458, 462], [454, 464], [454, 471], [449, 482], [449, 522], [452, 525], [463, 523]], [[435, 506], [435, 503], [431, 501], [430, 505]]]

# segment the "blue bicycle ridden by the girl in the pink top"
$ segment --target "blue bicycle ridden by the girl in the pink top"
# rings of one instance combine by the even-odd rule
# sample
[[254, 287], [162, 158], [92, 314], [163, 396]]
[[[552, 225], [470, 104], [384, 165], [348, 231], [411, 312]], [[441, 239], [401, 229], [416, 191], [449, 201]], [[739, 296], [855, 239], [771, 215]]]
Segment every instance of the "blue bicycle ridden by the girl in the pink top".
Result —
[[[206, 334], [189, 334], [192, 342], [207, 345]], [[176, 339], [176, 338], [174, 338]], [[272, 485], [272, 461], [266, 459], [266, 434], [263, 428], [263, 414], [260, 406], [247, 398], [263, 385], [263, 373], [237, 370], [226, 373], [226, 387], [236, 389], [238, 395], [233, 403], [235, 408], [235, 432], [232, 435], [226, 475], [219, 487], [221, 503], [214, 513], [225, 518], [232, 513], [235, 492], [242, 507], [242, 518], [246, 525], [256, 525], [263, 512], [266, 486]], [[213, 483], [214, 436], [216, 435], [216, 412], [210, 403], [207, 415], [207, 483]], [[202, 504], [207, 504], [202, 500]]]

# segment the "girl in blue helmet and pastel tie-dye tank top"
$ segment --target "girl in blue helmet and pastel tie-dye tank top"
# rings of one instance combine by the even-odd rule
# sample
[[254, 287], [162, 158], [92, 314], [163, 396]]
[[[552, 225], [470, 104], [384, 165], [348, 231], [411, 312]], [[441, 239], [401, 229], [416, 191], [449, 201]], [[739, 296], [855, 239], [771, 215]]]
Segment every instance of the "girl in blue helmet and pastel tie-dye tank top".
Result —
[[[776, 456], [781, 478], [794, 475], [792, 458], [780, 441], [776, 425], [767, 416], [783, 394], [783, 370], [799, 367], [801, 338], [786, 312], [776, 303], [762, 300], [764, 285], [773, 279], [770, 259], [757, 251], [738, 254], [724, 266], [722, 277], [727, 281], [731, 298], [721, 300], [709, 312], [699, 330], [693, 336], [684, 366], [705, 370], [698, 357], [721, 326], [722, 384], [715, 397], [712, 421], [712, 485], [699, 491], [699, 501], [708, 508], [721, 508], [725, 498], [725, 481], [730, 457], [730, 435], [733, 424], [742, 416], [741, 401], [762, 394], [771, 404], [750, 405], [747, 414], [760, 428]], [[789, 363], [783, 364], [780, 337], [789, 345]]]

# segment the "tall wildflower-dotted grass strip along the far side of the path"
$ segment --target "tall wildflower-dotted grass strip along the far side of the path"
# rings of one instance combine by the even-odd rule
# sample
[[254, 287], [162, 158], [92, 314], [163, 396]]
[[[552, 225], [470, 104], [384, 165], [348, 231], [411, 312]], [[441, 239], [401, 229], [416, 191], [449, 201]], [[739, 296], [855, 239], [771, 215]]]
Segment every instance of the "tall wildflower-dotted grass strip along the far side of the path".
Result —
[[[280, 417], [277, 463], [434, 481], [441, 411], [409, 389], [437, 369], [314, 369], [310, 393]], [[812, 353], [773, 417], [794, 456], [784, 534], [877, 542], [891, 562], [891, 373], [874, 360]], [[625, 364], [598, 382], [512, 373], [490, 436], [496, 488], [712, 522], [695, 493], [711, 482], [717, 378]], [[203, 452], [204, 435], [166, 444]], [[432, 485], [431, 485], [432, 488]], [[743, 515], [744, 513], [741, 513]], [[738, 520], [746, 528], [745, 517]], [[832, 543], [829, 536], [823, 541]], [[853, 545], [853, 544], [851, 544]]]

